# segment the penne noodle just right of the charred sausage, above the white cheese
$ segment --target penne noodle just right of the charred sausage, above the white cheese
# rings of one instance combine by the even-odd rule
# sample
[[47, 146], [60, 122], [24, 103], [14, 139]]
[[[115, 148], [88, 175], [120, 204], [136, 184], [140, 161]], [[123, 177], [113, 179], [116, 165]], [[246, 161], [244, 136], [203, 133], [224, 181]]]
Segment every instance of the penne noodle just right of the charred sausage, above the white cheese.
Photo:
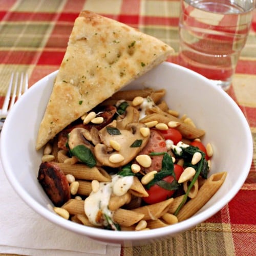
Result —
[[88, 167], [84, 164], [56, 163], [62, 172], [72, 174], [76, 179], [111, 181], [111, 176], [101, 167]]

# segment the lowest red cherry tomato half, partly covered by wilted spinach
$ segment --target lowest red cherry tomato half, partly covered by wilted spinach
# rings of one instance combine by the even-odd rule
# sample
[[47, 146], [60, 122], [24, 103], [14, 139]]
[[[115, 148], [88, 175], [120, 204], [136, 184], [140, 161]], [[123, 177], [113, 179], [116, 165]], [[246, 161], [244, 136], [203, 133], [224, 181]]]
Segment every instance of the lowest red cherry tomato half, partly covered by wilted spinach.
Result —
[[[183, 170], [184, 169], [182, 166], [180, 166], [178, 164], [174, 165], [174, 173], [175, 173], [177, 180], [180, 178], [181, 174], [183, 173]], [[172, 183], [174, 181], [174, 177], [166, 176], [163, 178], [163, 180], [167, 181], [169, 183]], [[150, 187], [150, 189], [146, 189], [146, 191], [148, 193], [148, 197], [143, 197], [142, 199], [147, 204], [155, 204], [155, 203], [162, 202], [162, 201], [166, 200], [167, 198], [171, 197], [175, 192], [175, 190], [167, 190], [158, 185], [153, 185]]]

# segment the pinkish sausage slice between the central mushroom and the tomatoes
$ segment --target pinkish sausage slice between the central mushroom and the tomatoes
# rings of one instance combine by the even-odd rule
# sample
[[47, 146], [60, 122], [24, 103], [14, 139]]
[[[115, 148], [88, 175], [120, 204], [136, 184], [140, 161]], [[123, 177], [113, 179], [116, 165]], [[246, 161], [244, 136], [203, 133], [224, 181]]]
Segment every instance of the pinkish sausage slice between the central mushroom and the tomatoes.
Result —
[[[167, 152], [165, 140], [163, 136], [154, 129], [151, 129], [150, 140], [147, 142], [146, 146], [139, 153], [139, 155], [149, 155], [152, 152]], [[152, 164], [150, 167], [142, 167], [145, 173], [149, 173], [152, 170], [159, 170], [162, 168], [163, 155], [151, 156]]]

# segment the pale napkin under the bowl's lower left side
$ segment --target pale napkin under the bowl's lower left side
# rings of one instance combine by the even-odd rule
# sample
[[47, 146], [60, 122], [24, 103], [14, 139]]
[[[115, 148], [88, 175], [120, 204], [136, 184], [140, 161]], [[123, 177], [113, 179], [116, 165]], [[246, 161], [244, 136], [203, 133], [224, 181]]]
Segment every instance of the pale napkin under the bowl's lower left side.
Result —
[[0, 253], [120, 256], [120, 246], [98, 243], [54, 225], [15, 193], [0, 161]]

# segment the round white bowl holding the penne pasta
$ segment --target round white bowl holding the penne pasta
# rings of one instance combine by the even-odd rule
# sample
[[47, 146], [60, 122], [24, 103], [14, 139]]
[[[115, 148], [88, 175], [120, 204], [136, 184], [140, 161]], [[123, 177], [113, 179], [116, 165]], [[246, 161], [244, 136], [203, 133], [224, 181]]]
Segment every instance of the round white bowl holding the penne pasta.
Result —
[[49, 221], [98, 241], [124, 246], [149, 243], [157, 238], [175, 236], [205, 221], [223, 208], [243, 185], [250, 169], [253, 146], [248, 123], [238, 105], [203, 76], [164, 62], [125, 89], [145, 86], [166, 89], [168, 105], [187, 114], [206, 131], [203, 142], [214, 146], [211, 173], [223, 170], [228, 173], [222, 187], [190, 219], [143, 233], [99, 230], [57, 216], [48, 208], [51, 202], [37, 181], [42, 152], [35, 150], [37, 131], [56, 74], [57, 71], [39, 80], [22, 96], [9, 113], [1, 134], [1, 157], [8, 180], [17, 194]]

